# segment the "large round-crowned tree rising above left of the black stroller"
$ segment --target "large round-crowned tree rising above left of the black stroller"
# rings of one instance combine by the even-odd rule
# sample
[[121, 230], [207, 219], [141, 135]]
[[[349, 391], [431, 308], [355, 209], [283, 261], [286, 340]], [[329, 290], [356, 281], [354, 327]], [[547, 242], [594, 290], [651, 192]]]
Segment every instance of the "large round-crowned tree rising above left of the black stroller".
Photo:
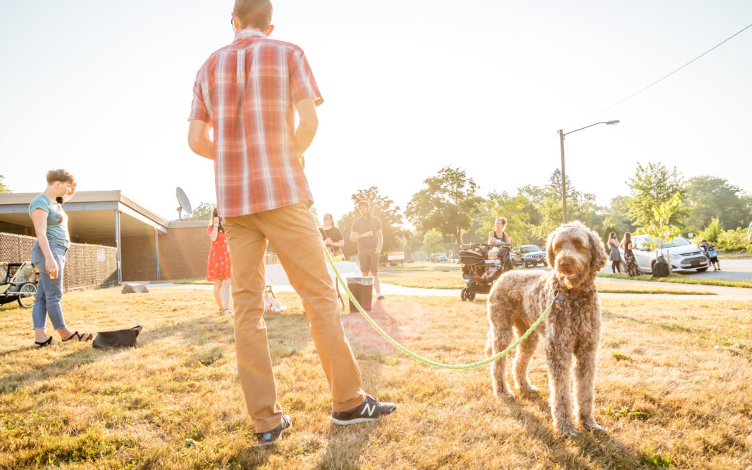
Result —
[[462, 245], [462, 230], [472, 224], [480, 212], [483, 198], [478, 196], [478, 185], [459, 168], [445, 166], [438, 174], [423, 180], [426, 188], [415, 193], [408, 202], [405, 214], [423, 232], [436, 229], [452, 235]]

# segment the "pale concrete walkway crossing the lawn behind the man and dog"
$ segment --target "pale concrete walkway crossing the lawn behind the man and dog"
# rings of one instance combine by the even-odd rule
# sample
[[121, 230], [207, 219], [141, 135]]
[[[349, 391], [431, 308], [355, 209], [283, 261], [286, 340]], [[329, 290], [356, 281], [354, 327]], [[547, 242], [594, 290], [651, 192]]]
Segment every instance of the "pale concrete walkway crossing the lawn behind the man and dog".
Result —
[[[645, 280], [629, 279], [611, 279], [605, 278], [609, 283], [625, 284], [625, 287], [643, 287], [645, 289], [671, 289], [686, 291], [703, 291], [712, 292], [717, 295], [703, 296], [699, 294], [634, 294], [634, 293], [601, 293], [599, 296], [603, 299], [664, 299], [664, 300], [747, 300], [752, 302], [752, 289], [741, 287], [720, 287], [720, 286], [703, 286], [699, 284], [674, 284], [648, 282]], [[149, 289], [193, 289], [193, 290], [213, 290], [214, 286], [210, 284], [170, 284], [149, 282], [131, 283], [146, 284]], [[117, 287], [120, 289], [120, 287]], [[295, 292], [290, 286], [272, 286], [274, 292]], [[340, 288], [341, 291], [341, 288]], [[459, 289], [422, 289], [418, 287], [402, 287], [394, 284], [381, 282], [381, 293], [384, 296], [419, 296], [419, 297], [456, 297], [459, 299]]]

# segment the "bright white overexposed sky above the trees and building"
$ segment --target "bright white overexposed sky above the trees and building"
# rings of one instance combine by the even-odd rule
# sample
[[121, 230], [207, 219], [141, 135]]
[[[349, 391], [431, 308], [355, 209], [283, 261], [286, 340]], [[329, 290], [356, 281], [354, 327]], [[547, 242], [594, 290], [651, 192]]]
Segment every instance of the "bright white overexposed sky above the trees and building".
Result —
[[[175, 186], [214, 202], [186, 144], [193, 80], [232, 41], [232, 0], [0, 0], [0, 174], [15, 192], [67, 168], [175, 218]], [[324, 97], [306, 174], [320, 214], [378, 186], [403, 210], [444, 165], [490, 191], [560, 165], [608, 204], [635, 162], [713, 174], [752, 193], [748, 0], [274, 2], [272, 38], [305, 50]]]

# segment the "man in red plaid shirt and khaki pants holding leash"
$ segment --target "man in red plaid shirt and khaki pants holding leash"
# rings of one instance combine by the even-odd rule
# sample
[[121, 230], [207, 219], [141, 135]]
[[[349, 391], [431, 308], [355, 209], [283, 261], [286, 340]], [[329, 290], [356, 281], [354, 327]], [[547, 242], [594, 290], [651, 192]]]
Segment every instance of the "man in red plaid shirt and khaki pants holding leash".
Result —
[[270, 23], [268, 0], [235, 1], [235, 41], [211, 54], [196, 75], [188, 130], [191, 150], [214, 160], [217, 211], [232, 261], [238, 375], [259, 445], [292, 426], [276, 402], [263, 320], [267, 241], [311, 323], [332, 393], [332, 421], [362, 423], [396, 410], [360, 390], [300, 162], [323, 99], [302, 49], [269, 39]]

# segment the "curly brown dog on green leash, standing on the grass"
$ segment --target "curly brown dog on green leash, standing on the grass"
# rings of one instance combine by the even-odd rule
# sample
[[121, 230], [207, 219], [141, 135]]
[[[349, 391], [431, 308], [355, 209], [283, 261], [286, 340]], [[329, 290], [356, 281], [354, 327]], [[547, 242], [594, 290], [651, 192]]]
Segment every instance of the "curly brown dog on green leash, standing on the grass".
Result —
[[[551, 271], [509, 271], [493, 284], [488, 296], [487, 353], [505, 350], [562, 295], [543, 323], [523, 341], [514, 356], [514, 383], [522, 391], [536, 390], [527, 367], [542, 335], [548, 365], [553, 425], [575, 436], [576, 415], [586, 429], [602, 429], [593, 419], [596, 353], [601, 335], [601, 306], [594, 281], [606, 265], [603, 241], [582, 223], [560, 226], [546, 241]], [[576, 411], [572, 410], [572, 356], [575, 359]], [[491, 363], [493, 391], [511, 396], [504, 357]]]

